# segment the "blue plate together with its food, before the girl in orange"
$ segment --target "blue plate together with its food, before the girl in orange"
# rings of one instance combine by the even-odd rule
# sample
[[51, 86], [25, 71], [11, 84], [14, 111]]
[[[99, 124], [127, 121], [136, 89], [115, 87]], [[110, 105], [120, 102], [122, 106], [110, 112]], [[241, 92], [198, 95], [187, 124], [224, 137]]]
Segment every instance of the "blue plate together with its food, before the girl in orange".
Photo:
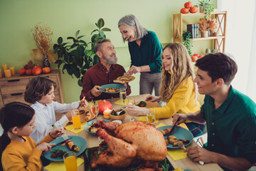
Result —
[[[66, 141], [64, 140], [64, 138], [57, 138], [57, 139], [53, 140], [52, 142], [50, 142], [50, 143], [55, 143], [55, 144], [58, 144], [59, 142], [63, 142], [63, 143], [52, 147], [52, 149], [49, 152], [46, 152], [46, 154], [44, 154], [44, 156], [48, 160], [59, 162], [59, 161], [63, 161], [62, 155], [61, 154], [58, 155], [58, 153], [61, 151], [63, 151], [63, 152], [74, 151], [74, 152], [76, 152], [77, 156], [82, 154], [82, 152], [85, 151], [85, 149], [87, 147], [87, 141], [85, 140], [85, 138], [81, 138], [81, 137], [75, 136], [75, 135], [69, 135], [68, 138], [69, 139]], [[53, 155], [53, 153], [55, 153], [56, 156]]]

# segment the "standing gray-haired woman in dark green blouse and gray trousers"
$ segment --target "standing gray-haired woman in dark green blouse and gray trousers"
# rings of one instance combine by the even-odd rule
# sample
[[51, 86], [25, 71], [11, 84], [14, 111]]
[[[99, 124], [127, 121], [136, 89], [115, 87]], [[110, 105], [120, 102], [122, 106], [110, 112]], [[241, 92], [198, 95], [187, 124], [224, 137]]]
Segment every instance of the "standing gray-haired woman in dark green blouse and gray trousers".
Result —
[[139, 24], [138, 19], [129, 14], [118, 22], [124, 41], [128, 41], [131, 55], [131, 67], [126, 73], [128, 76], [141, 73], [139, 81], [139, 94], [159, 95], [161, 85], [161, 53], [162, 46], [156, 33], [147, 31]]

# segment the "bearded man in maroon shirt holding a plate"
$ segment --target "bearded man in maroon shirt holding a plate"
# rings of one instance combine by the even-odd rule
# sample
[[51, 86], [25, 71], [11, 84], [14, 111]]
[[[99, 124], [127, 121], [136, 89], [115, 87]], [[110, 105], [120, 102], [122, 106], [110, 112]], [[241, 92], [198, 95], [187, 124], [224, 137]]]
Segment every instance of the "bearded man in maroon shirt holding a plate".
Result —
[[[95, 51], [100, 61], [88, 69], [82, 81], [80, 99], [85, 96], [86, 100], [103, 100], [107, 98], [119, 98], [119, 93], [109, 94], [99, 90], [102, 85], [113, 83], [119, 76], [125, 73], [124, 67], [117, 64], [116, 51], [109, 39], [101, 39], [95, 45]], [[127, 87], [127, 95], [131, 93], [131, 87]]]

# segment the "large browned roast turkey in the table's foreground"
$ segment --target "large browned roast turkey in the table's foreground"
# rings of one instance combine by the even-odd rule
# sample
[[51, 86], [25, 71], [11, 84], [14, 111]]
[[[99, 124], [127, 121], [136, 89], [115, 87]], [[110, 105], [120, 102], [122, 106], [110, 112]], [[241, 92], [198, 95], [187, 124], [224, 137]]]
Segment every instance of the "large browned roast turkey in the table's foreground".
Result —
[[101, 127], [97, 135], [104, 139], [108, 148], [91, 160], [92, 167], [124, 168], [139, 161], [157, 167], [166, 158], [164, 135], [151, 123], [134, 121], [119, 125], [102, 120], [97, 122]]

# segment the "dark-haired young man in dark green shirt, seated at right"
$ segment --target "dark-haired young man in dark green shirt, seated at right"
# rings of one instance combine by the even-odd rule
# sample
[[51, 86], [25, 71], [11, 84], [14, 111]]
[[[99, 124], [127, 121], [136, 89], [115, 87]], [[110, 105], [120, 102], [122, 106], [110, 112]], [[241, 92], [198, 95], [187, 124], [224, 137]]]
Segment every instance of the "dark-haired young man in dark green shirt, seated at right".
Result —
[[256, 104], [230, 85], [237, 64], [223, 53], [210, 53], [196, 66], [194, 82], [206, 94], [204, 104], [196, 113], [175, 114], [174, 123], [206, 123], [208, 145], [184, 152], [193, 161], [215, 162], [224, 170], [248, 170], [256, 162]]

